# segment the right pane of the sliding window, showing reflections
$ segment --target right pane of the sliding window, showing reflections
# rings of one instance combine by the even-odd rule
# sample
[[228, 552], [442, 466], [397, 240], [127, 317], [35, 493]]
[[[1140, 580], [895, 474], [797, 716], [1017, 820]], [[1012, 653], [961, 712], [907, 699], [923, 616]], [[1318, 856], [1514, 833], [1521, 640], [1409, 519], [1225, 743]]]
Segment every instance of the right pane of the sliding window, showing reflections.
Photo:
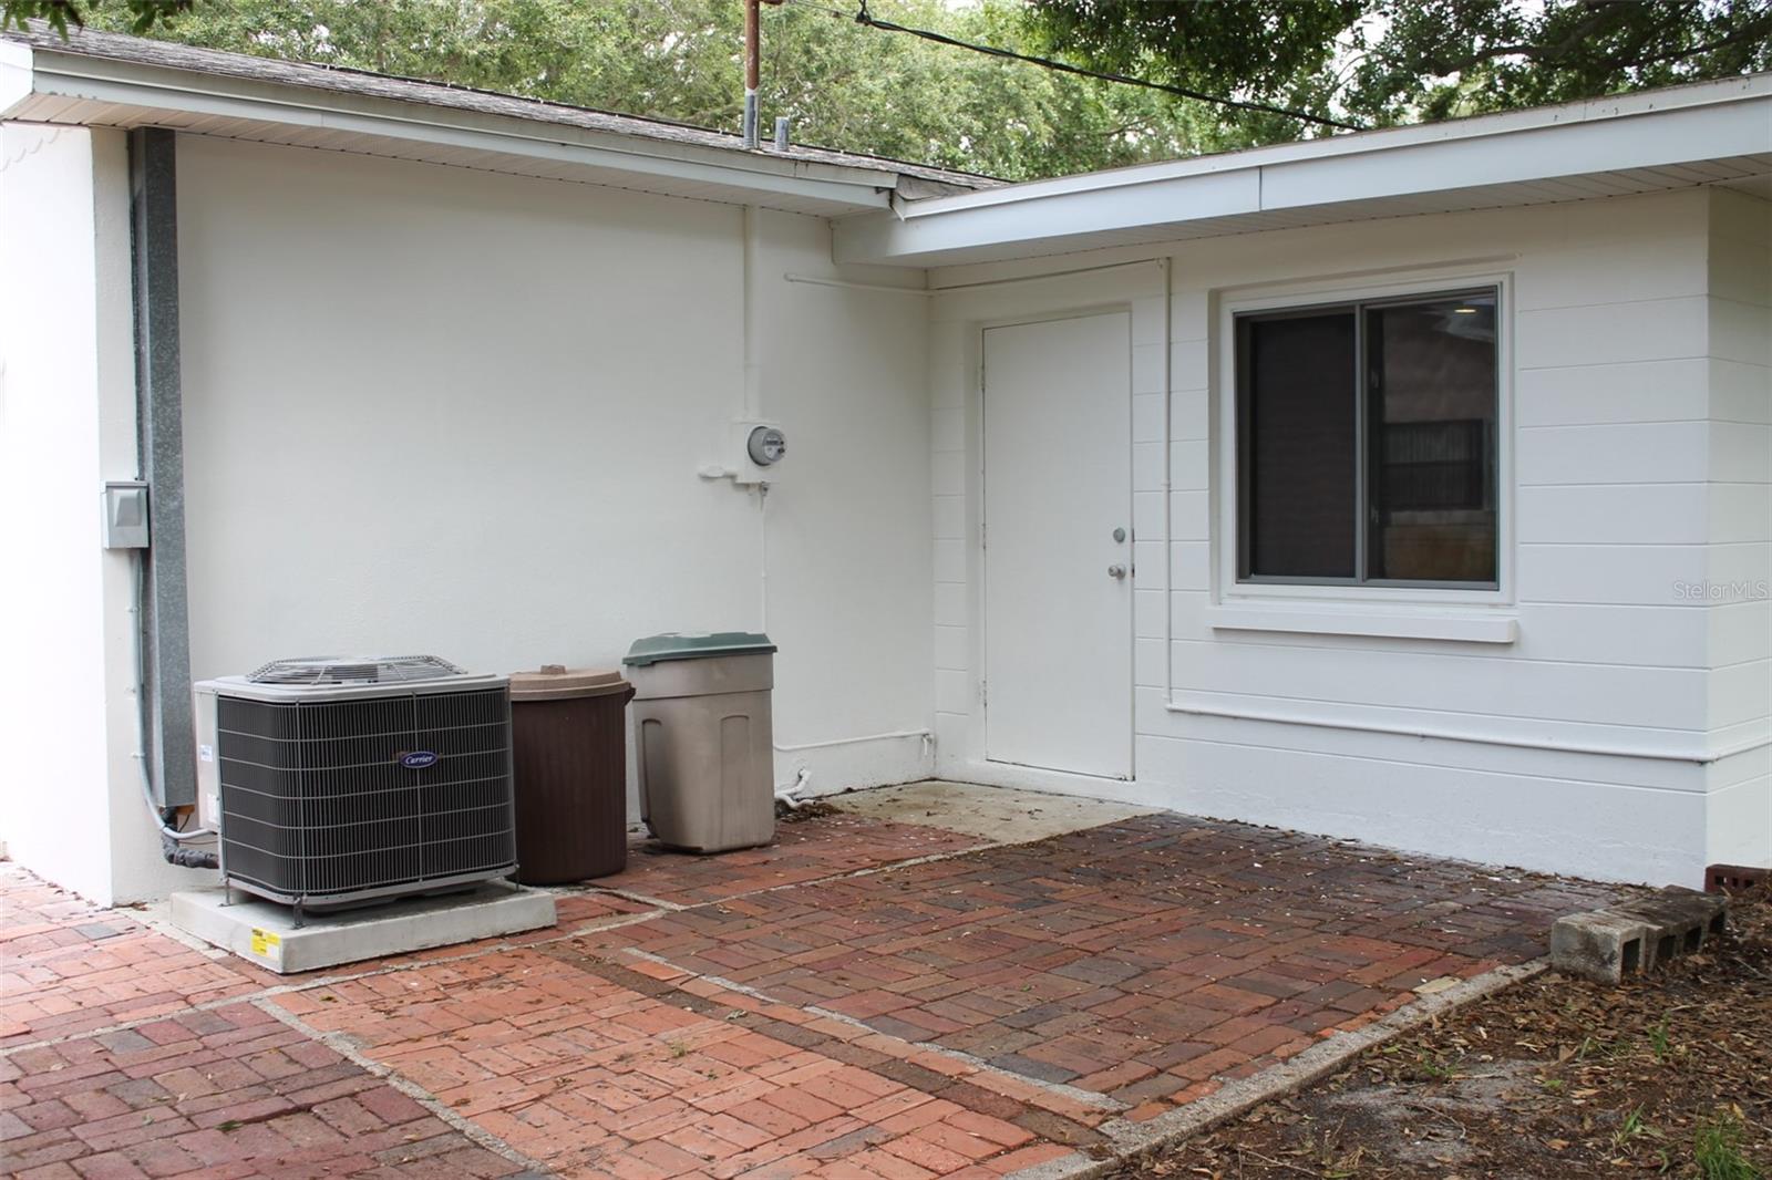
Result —
[[1366, 578], [1496, 581], [1496, 299], [1366, 310]]

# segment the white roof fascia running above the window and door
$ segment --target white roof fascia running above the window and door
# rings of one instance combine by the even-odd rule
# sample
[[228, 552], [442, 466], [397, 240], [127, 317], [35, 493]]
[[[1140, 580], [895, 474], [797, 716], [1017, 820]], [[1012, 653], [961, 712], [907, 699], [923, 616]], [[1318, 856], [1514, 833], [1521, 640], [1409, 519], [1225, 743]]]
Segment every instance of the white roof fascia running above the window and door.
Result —
[[[1772, 74], [1285, 144], [898, 202], [836, 225], [838, 262], [934, 264], [1083, 250], [1219, 218], [1531, 184], [1772, 152]], [[1767, 161], [1772, 170], [1772, 161]], [[1696, 181], [1694, 181], [1696, 182]], [[1290, 223], [1299, 223], [1290, 218]], [[1256, 229], [1258, 225], [1224, 225]], [[968, 253], [971, 252], [971, 253]]]

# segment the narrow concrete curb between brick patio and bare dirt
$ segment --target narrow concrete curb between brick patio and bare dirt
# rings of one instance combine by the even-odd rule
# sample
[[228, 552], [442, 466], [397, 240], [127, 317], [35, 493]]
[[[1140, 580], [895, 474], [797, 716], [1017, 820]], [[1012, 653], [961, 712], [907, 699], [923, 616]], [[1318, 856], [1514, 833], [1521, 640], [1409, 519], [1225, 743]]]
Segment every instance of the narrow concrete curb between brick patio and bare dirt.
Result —
[[1072, 1152], [1070, 1155], [1010, 1173], [1008, 1180], [1095, 1180], [1095, 1176], [1106, 1176], [1141, 1155], [1198, 1136], [1271, 1098], [1327, 1077], [1366, 1049], [1421, 1028], [1434, 1017], [1492, 996], [1504, 987], [1522, 983], [1549, 969], [1549, 959], [1533, 959], [1531, 962], [1497, 967], [1462, 980], [1444, 990], [1411, 1001], [1364, 1028], [1327, 1036], [1279, 1065], [1226, 1083], [1221, 1090], [1148, 1122], [1108, 1120], [1097, 1130], [1106, 1136], [1108, 1146], [1113, 1150], [1111, 1157], [1093, 1159], [1083, 1152]]

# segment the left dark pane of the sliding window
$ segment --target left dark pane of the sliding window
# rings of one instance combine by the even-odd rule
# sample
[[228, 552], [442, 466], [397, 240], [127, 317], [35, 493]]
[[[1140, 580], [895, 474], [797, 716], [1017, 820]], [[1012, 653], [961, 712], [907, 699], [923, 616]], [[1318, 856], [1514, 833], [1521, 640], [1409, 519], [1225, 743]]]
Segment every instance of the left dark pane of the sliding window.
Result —
[[1242, 574], [1356, 574], [1352, 308], [1242, 321]]

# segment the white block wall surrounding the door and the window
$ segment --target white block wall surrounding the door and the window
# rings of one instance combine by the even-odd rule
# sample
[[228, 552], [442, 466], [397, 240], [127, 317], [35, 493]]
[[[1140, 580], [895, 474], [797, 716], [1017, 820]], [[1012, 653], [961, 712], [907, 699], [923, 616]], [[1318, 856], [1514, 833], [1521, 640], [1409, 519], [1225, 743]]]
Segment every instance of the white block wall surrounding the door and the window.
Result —
[[[1719, 200], [1740, 214], [1731, 225], [1760, 204]], [[1763, 427], [1714, 420], [1726, 415], [1714, 411], [1712, 358], [1738, 361], [1767, 337], [1737, 314], [1740, 296], [1714, 292], [1715, 223], [1712, 197], [1687, 191], [934, 271], [934, 287], [969, 285], [934, 301], [930, 340], [936, 462], [950, 473], [934, 514], [941, 771], [1531, 868], [1698, 884], [1726, 843], [1722, 829], [1733, 829], [1714, 819], [1724, 811], [1710, 796], [1728, 797], [1731, 817], [1756, 815], [1767, 799], [1754, 778], [1767, 755], [1754, 608], [1712, 609], [1678, 590], [1724, 567], [1735, 578], [1765, 567], [1763, 547], [1735, 544], [1742, 528], [1763, 528], [1747, 507], [1754, 489], [1740, 485], [1751, 477], [1735, 468], [1765, 461], [1728, 457], [1744, 438], [1763, 445]], [[1154, 262], [1077, 273], [1141, 259], [1168, 259], [1168, 278]], [[1024, 282], [1042, 271], [1069, 275]], [[1019, 282], [973, 285], [1005, 278]], [[1501, 590], [1364, 601], [1322, 590], [1304, 606], [1499, 617], [1517, 620], [1517, 638], [1226, 629], [1221, 608], [1244, 594], [1224, 572], [1228, 308], [1476, 280], [1501, 282], [1508, 307]], [[1115, 303], [1134, 317], [1139, 553], [1127, 783], [985, 762], [976, 703], [976, 333]], [[1728, 340], [1715, 344], [1724, 322]], [[1760, 390], [1753, 413], [1763, 415]], [[1724, 501], [1742, 507], [1722, 510]], [[1398, 625], [1409, 633], [1407, 618]], [[1745, 643], [1742, 654], [1714, 650], [1724, 631], [1749, 636], [1729, 640]], [[1724, 748], [1745, 749], [1738, 771], [1719, 778]], [[1749, 863], [1772, 859], [1763, 829], [1745, 831], [1728, 847]]]

